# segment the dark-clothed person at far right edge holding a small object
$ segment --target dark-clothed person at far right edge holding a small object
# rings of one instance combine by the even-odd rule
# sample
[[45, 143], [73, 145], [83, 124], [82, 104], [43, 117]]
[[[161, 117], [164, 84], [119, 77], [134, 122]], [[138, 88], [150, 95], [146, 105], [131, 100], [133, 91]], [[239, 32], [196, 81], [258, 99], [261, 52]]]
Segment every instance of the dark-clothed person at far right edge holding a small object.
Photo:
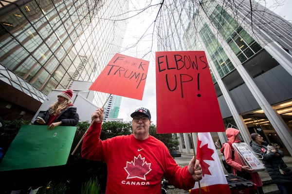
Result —
[[277, 144], [266, 144], [258, 133], [251, 134], [250, 145], [262, 156], [263, 164], [281, 194], [292, 194], [292, 170], [283, 161], [284, 152]]

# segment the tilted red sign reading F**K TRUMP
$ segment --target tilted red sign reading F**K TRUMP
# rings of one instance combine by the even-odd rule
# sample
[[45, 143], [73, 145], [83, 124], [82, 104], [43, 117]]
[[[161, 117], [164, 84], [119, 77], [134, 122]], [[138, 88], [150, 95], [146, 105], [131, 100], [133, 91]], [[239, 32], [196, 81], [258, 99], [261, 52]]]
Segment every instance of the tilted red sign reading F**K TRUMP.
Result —
[[116, 53], [90, 90], [142, 100], [149, 62]]

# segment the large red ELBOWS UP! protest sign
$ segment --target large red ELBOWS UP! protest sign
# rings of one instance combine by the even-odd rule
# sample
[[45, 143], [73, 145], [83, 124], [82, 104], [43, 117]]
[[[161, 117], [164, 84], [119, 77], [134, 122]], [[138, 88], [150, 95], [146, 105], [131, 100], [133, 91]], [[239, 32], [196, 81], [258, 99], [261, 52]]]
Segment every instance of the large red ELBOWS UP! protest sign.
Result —
[[223, 132], [204, 51], [156, 52], [157, 133]]

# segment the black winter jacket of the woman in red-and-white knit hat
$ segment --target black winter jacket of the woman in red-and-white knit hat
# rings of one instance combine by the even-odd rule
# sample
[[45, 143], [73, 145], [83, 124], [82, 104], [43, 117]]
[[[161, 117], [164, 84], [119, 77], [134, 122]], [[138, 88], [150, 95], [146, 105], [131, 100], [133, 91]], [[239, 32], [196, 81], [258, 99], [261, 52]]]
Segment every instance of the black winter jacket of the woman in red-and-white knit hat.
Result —
[[[49, 110], [47, 110], [41, 117], [45, 120], [46, 124], [38, 124], [37, 121], [35, 121], [35, 125], [47, 125], [50, 118]], [[59, 121], [62, 121], [62, 124], [60, 126], [76, 126], [79, 122], [79, 114], [77, 113], [77, 108], [74, 106], [67, 107], [55, 118], [53, 123]]]

